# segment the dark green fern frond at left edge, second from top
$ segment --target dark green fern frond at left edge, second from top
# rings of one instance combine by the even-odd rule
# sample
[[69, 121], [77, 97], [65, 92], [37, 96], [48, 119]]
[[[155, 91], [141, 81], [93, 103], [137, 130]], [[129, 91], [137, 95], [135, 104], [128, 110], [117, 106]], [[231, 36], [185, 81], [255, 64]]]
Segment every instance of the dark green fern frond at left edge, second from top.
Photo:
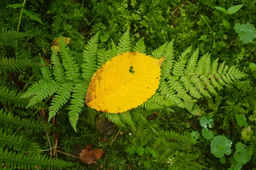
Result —
[[4, 72], [18, 73], [27, 68], [38, 68], [41, 64], [29, 59], [3, 58], [0, 60], [0, 74]]

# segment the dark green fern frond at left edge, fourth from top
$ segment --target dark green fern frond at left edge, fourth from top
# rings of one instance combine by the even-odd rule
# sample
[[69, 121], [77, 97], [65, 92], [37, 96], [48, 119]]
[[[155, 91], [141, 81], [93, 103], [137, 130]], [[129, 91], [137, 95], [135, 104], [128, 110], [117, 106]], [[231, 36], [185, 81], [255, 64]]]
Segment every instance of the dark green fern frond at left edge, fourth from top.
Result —
[[3, 109], [0, 110], [0, 123], [13, 128], [23, 127], [26, 130], [35, 130], [37, 132], [48, 130], [52, 126], [50, 124], [45, 125], [45, 122], [39, 122], [35, 119], [20, 119], [20, 116], [14, 116], [11, 112], [4, 112]]

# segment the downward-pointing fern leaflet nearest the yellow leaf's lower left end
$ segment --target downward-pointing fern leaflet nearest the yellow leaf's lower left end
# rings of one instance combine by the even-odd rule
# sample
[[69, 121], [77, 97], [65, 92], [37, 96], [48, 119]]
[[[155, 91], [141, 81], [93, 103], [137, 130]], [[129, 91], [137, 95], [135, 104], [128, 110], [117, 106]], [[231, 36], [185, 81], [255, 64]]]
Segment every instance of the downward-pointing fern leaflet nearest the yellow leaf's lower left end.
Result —
[[68, 112], [69, 121], [73, 129], [76, 130], [76, 124], [78, 121], [79, 113], [81, 113], [82, 108], [84, 107], [84, 96], [87, 92], [88, 83], [78, 83], [74, 88], [74, 93], [72, 95], [70, 107], [68, 108], [70, 111]]

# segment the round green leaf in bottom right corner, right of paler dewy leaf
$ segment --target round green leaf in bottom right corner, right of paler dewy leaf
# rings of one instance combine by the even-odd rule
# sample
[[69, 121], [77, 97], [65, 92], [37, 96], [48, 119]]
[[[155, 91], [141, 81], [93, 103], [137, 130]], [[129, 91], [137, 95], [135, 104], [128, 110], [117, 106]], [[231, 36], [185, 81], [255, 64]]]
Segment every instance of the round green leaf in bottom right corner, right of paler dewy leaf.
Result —
[[234, 153], [234, 158], [239, 164], [246, 164], [246, 162], [250, 161], [252, 158], [252, 152], [250, 152], [249, 148], [241, 143], [238, 142], [236, 144], [236, 152]]

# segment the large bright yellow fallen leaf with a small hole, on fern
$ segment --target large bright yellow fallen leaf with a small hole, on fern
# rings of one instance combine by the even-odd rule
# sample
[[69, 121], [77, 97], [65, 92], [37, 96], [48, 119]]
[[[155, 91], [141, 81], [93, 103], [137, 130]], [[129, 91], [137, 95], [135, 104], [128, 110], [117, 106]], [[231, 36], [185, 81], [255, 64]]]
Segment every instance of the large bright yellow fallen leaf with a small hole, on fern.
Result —
[[87, 106], [122, 113], [143, 104], [158, 88], [163, 59], [127, 52], [108, 60], [90, 81], [85, 97]]

